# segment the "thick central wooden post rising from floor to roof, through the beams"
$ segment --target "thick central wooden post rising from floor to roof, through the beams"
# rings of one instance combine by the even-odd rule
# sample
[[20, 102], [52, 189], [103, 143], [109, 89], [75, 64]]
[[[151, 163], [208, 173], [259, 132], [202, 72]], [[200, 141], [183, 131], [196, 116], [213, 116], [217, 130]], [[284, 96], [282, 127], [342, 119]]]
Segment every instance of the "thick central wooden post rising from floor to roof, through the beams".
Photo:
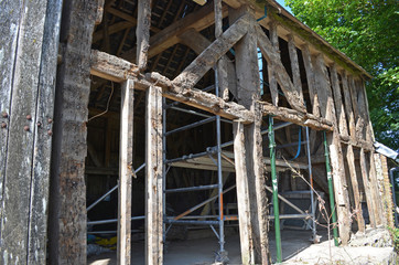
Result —
[[[229, 10], [230, 23], [252, 10], [242, 6]], [[235, 124], [235, 159], [237, 202], [241, 242], [242, 264], [268, 264], [267, 195], [263, 177], [262, 139], [260, 136], [261, 115], [256, 105], [260, 97], [260, 80], [257, 56], [257, 39], [254, 21], [248, 33], [235, 45], [238, 102], [256, 114], [251, 125]]]

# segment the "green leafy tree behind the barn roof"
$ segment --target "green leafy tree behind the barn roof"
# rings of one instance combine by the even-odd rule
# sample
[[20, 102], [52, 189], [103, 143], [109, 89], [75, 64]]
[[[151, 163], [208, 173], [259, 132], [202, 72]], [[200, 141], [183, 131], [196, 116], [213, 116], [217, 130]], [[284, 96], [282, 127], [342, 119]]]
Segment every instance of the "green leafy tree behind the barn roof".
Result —
[[363, 66], [376, 140], [399, 150], [399, 1], [285, 0], [294, 15]]

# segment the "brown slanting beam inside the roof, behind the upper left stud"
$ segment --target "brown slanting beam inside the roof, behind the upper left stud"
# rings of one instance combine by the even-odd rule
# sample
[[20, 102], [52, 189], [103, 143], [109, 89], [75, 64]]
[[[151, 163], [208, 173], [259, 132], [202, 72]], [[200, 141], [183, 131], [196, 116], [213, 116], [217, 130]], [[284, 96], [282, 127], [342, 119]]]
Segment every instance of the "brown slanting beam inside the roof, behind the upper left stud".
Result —
[[[227, 14], [227, 9], [223, 8], [223, 15]], [[150, 38], [150, 50], [148, 57], [151, 59], [164, 50], [179, 43], [177, 35], [188, 29], [202, 31], [214, 23], [214, 9], [212, 4], [206, 4], [198, 11], [185, 15], [183, 19], [174, 22], [170, 26], [163, 29], [155, 35]], [[134, 61], [136, 47], [122, 54], [127, 61]]]

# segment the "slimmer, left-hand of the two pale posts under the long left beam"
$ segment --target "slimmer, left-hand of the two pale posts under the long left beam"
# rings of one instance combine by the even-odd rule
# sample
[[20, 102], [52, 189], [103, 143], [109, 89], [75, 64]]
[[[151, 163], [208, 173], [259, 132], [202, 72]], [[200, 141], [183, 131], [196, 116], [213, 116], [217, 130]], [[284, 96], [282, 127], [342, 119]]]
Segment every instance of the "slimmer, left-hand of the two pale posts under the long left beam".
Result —
[[119, 188], [118, 188], [118, 245], [117, 262], [129, 265], [131, 258], [131, 189], [133, 163], [133, 82], [121, 85], [120, 137], [119, 137]]

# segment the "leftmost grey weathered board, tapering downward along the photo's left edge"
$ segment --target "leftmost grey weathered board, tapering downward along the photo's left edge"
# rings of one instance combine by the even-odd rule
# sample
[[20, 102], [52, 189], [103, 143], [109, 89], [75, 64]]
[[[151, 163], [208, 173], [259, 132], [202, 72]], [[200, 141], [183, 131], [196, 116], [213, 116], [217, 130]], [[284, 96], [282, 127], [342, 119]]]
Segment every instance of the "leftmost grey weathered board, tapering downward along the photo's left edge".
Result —
[[12, 76], [22, 11], [20, 7], [22, 7], [22, 1], [10, 0], [0, 2], [0, 21], [2, 21], [2, 25], [0, 26], [0, 230], [3, 211], [2, 202], [6, 179]]

